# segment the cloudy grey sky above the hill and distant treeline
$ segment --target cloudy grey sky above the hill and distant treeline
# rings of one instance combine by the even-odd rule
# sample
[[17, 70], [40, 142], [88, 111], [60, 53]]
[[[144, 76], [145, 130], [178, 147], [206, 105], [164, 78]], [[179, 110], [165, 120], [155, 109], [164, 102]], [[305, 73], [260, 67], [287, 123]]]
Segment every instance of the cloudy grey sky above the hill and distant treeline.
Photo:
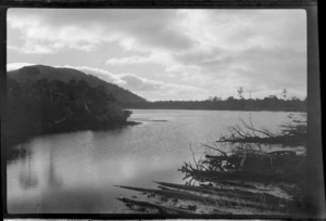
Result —
[[304, 10], [9, 9], [8, 70], [72, 67], [149, 100], [306, 96]]

